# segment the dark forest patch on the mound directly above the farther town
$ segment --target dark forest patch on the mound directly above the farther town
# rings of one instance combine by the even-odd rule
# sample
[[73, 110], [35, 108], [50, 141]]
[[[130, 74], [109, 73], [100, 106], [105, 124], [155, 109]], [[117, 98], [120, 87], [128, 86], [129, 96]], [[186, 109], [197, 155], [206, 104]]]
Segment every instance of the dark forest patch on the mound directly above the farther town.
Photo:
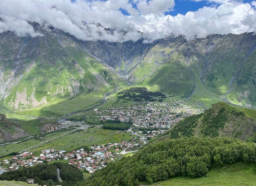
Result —
[[130, 101], [160, 101], [162, 102], [166, 95], [160, 92], [148, 91], [146, 87], [131, 87], [127, 90], [117, 93], [119, 99]]

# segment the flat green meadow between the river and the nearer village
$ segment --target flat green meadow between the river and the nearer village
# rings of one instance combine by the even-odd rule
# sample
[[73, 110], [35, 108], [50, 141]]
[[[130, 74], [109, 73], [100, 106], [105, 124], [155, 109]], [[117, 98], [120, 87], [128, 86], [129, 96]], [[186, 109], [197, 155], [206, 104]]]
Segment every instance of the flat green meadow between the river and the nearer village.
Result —
[[[75, 130], [66, 135], [68, 131], [63, 132], [54, 132], [52, 134], [47, 134], [43, 137], [43, 141], [37, 139], [31, 139], [21, 143], [15, 143], [10, 145], [1, 146], [0, 156], [9, 154], [11, 152], [19, 152], [26, 148], [30, 148], [32, 146], [38, 145], [44, 141], [55, 138], [49, 142], [43, 143], [39, 146], [35, 146], [28, 151], [36, 151], [35, 153], [40, 152], [43, 149], [59, 149], [59, 150], [73, 150], [83, 146], [92, 146], [92, 145], [103, 145], [107, 143], [118, 143], [122, 141], [128, 141], [133, 138], [131, 133], [120, 132], [116, 133], [112, 130], [102, 129], [99, 126], [95, 126], [93, 128], [88, 128], [85, 130]], [[60, 137], [59, 137], [60, 136]], [[1, 159], [0, 159], [1, 161]]]

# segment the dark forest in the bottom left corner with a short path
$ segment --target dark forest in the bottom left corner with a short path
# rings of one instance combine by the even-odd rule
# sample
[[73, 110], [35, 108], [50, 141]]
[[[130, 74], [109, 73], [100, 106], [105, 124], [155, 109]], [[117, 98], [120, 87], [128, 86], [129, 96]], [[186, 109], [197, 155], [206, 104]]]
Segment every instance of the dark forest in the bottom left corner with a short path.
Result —
[[[60, 177], [63, 180], [61, 183], [58, 180], [57, 168], [60, 169]], [[83, 174], [72, 165], [54, 162], [53, 164], [40, 164], [16, 171], [5, 172], [0, 175], [0, 180], [26, 182], [28, 179], [34, 179], [34, 183], [38, 183], [39, 185], [73, 186], [83, 180]]]

